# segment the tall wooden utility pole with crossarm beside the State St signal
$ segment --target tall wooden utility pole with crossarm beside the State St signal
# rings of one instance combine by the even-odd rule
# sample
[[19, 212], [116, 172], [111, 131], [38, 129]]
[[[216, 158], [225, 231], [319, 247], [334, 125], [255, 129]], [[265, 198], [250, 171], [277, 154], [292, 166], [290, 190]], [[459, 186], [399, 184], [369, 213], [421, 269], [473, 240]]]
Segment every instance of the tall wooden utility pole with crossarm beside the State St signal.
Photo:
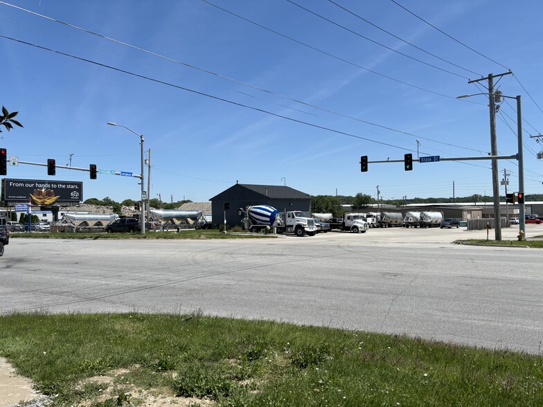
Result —
[[[488, 107], [490, 109], [490, 154], [497, 156], [498, 144], [496, 140], [496, 105], [494, 93], [494, 78], [504, 75], [510, 75], [512, 72], [500, 73], [499, 75], [488, 74], [487, 78], [470, 80], [468, 84], [488, 80]], [[499, 181], [498, 181], [498, 161], [492, 159], [492, 195], [494, 199], [494, 222], [495, 222], [495, 239], [501, 240], [501, 217], [499, 212]]]

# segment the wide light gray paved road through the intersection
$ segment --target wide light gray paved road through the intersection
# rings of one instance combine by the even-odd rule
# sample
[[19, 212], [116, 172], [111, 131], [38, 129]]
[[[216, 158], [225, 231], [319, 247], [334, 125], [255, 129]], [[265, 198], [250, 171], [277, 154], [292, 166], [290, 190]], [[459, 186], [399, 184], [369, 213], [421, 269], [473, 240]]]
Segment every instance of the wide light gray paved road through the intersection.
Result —
[[[528, 235], [543, 233], [528, 226]], [[516, 234], [504, 230], [504, 239]], [[451, 244], [471, 237], [486, 231], [11, 239], [0, 258], [0, 313], [202, 310], [541, 354], [543, 251]]]

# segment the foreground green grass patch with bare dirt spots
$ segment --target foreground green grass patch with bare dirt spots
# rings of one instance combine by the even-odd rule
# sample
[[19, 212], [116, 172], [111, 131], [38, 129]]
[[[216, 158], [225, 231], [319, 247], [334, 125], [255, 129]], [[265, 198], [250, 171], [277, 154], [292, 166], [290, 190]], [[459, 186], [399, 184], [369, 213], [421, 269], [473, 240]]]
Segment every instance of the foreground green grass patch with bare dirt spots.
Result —
[[543, 405], [542, 356], [199, 313], [4, 315], [0, 354], [55, 406]]

